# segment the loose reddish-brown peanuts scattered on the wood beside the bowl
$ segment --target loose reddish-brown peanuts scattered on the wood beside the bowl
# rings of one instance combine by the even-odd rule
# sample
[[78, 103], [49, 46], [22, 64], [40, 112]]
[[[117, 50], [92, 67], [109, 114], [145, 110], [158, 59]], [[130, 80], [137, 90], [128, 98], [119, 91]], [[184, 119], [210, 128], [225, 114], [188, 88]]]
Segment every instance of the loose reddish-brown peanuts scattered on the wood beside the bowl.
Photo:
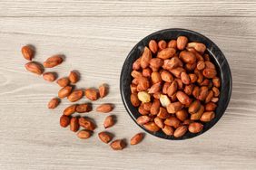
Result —
[[[47, 71], [45, 69], [51, 69], [58, 65], [60, 65], [64, 59], [62, 55], [54, 55], [49, 57], [44, 61], [43, 64], [34, 61], [34, 47], [31, 45], [25, 45], [22, 48], [22, 54], [24, 58], [29, 61], [25, 64], [25, 69], [37, 75], [43, 75], [43, 79], [49, 82], [54, 82], [60, 86], [60, 90], [58, 91], [58, 97], [54, 97], [50, 99], [48, 102], [48, 109], [55, 109], [60, 104], [61, 99], [68, 99], [71, 104], [69, 107], [64, 109], [63, 114], [60, 117], [60, 126], [68, 127], [76, 136], [80, 139], [87, 139], [92, 137], [94, 134], [94, 129], [96, 125], [92, 118], [84, 117], [83, 113], [88, 113], [93, 110], [91, 102], [85, 102], [82, 104], [75, 103], [80, 99], [83, 99], [85, 96], [86, 99], [90, 101], [94, 101], [97, 99], [103, 99], [108, 94], [108, 86], [106, 84], [101, 84], [98, 89], [96, 88], [87, 88], [85, 90], [76, 89], [75, 84], [78, 80], [80, 80], [80, 74], [77, 71], [70, 71], [69, 75], [57, 80], [57, 72]], [[106, 114], [113, 110], [113, 104], [111, 103], [103, 103], [96, 108], [97, 112]], [[75, 114], [77, 113], [77, 114]], [[115, 124], [115, 116], [108, 115], [103, 121], [103, 127], [105, 129], [113, 127]], [[82, 129], [81, 129], [82, 127]], [[113, 140], [113, 134], [103, 130], [98, 133], [99, 139], [105, 143], [110, 143], [110, 146], [113, 150], [122, 150], [125, 146], [127, 146], [126, 141], [124, 139], [115, 139]], [[144, 134], [138, 133], [134, 135], [130, 140], [130, 145], [137, 145], [143, 140]], [[111, 142], [112, 141], [112, 142]]]

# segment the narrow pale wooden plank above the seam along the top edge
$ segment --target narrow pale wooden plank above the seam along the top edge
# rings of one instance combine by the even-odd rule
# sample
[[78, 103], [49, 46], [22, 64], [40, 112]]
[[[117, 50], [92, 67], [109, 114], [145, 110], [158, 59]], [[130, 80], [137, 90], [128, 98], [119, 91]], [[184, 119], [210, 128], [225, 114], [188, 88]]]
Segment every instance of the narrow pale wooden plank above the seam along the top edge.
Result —
[[253, 0], [2, 0], [4, 17], [144, 17], [144, 16], [256, 16]]

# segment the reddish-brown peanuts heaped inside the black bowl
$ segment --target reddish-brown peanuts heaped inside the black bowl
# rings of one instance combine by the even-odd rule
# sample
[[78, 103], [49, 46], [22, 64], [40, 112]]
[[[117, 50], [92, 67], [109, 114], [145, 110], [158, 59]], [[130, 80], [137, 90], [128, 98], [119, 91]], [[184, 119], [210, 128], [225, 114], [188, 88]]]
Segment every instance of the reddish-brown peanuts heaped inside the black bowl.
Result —
[[201, 132], [215, 118], [221, 80], [203, 43], [185, 36], [151, 40], [131, 75], [131, 103], [147, 130], [182, 137]]

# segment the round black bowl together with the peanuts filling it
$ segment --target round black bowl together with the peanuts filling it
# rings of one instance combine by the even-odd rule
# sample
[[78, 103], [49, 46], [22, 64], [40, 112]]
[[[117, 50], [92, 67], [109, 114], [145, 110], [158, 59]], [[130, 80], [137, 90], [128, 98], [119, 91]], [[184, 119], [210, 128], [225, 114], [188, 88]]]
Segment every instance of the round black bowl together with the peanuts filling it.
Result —
[[167, 29], [138, 42], [123, 63], [123, 104], [156, 137], [197, 137], [222, 118], [231, 71], [222, 51], [200, 33]]

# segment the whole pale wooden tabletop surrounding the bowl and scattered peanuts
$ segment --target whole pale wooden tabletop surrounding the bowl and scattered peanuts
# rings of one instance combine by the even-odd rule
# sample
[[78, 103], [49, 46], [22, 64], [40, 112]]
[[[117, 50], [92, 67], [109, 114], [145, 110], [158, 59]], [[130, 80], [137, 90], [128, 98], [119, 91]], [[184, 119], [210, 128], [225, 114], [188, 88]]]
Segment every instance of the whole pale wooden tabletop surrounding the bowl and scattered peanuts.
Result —
[[[0, 2], [0, 169], [255, 169], [256, 2], [251, 1], [78, 1]], [[222, 119], [200, 137], [168, 141], [146, 135], [143, 143], [114, 152], [99, 142], [105, 115], [89, 113], [98, 127], [79, 140], [59, 126], [63, 100], [46, 109], [59, 89], [25, 71], [20, 49], [36, 47], [36, 61], [64, 53], [59, 76], [78, 70], [80, 88], [110, 85], [94, 102], [113, 102], [116, 138], [141, 132], [119, 93], [123, 61], [133, 45], [155, 31], [180, 27], [203, 33], [222, 49], [231, 66], [231, 102]], [[50, 70], [47, 70], [50, 71]], [[81, 100], [84, 102], [86, 99]]]

